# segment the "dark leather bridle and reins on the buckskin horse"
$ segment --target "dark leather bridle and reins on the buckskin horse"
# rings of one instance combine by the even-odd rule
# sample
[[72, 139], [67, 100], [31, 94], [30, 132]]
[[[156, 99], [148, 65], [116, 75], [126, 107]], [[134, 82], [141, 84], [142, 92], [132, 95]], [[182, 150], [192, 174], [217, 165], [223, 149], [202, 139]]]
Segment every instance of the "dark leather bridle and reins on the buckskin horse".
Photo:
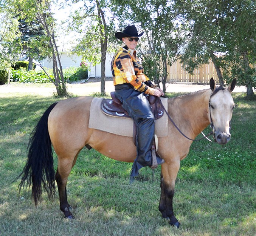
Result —
[[[203, 138], [200, 139], [192, 139], [189, 138], [188, 136], [186, 136], [180, 129], [179, 127], [175, 124], [174, 120], [172, 120], [171, 116], [169, 115], [169, 113], [167, 112], [167, 110], [165, 109], [165, 107], [163, 106], [163, 103], [160, 100], [160, 104], [163, 107], [164, 112], [166, 113], [166, 115], [168, 116], [169, 120], [172, 122], [172, 124], [174, 125], [174, 127], [178, 130], [178, 132], [180, 132], [185, 138], [191, 140], [191, 141], [200, 141], [204, 138], [206, 138], [208, 141], [212, 142], [208, 137], [210, 135], [213, 135], [214, 141], [216, 142], [216, 138], [215, 138], [215, 128], [214, 128], [214, 124], [213, 124], [213, 119], [211, 117], [211, 97], [213, 97], [213, 95], [215, 95], [217, 92], [219, 92], [220, 90], [224, 90], [226, 89], [225, 87], [223, 87], [222, 85], [220, 85], [219, 87], [217, 87], [217, 89], [214, 90], [214, 92], [211, 94], [210, 98], [209, 98], [209, 114], [210, 114], [210, 127], [211, 127], [211, 133], [209, 133], [208, 135], [205, 135], [203, 132], [201, 132], [203, 134]], [[231, 126], [230, 126], [231, 129]]]

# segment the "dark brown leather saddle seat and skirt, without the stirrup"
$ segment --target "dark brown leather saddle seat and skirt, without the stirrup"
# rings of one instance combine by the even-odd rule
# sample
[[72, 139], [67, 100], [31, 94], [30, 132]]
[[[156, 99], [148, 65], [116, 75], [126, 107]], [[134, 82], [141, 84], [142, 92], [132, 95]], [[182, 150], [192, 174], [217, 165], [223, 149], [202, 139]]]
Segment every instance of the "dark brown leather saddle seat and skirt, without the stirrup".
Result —
[[[116, 98], [115, 92], [111, 92], [110, 95], [112, 99], [102, 100], [102, 112], [110, 116], [129, 118], [130, 116], [128, 115], [126, 110], [123, 109], [121, 101], [118, 98]], [[163, 107], [161, 106], [160, 98], [153, 95], [149, 95], [147, 97], [147, 100], [149, 101], [150, 107], [155, 116], [155, 120], [161, 118], [164, 114], [164, 111]]]

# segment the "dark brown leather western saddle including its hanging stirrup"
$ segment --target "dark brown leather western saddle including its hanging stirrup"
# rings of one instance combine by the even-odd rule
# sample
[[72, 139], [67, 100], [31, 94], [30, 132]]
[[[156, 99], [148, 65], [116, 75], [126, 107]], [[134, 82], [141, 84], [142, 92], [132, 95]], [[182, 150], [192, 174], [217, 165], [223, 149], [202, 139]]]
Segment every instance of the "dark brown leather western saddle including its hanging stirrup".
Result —
[[[115, 92], [110, 93], [112, 99], [103, 99], [101, 103], [101, 110], [106, 115], [109, 116], [115, 116], [115, 117], [124, 117], [124, 118], [130, 118], [126, 110], [122, 107], [122, 102], [116, 98]], [[147, 97], [147, 100], [149, 101], [151, 110], [155, 116], [155, 120], [161, 118], [164, 114], [163, 107], [161, 106], [161, 100], [160, 98], [149, 95]], [[137, 127], [135, 122], [133, 122], [133, 143], [136, 146], [136, 134], [137, 134]], [[152, 166], [150, 166], [152, 169], [157, 168], [157, 160], [156, 155], [158, 155], [157, 150], [155, 148], [155, 141], [153, 142], [152, 148]], [[158, 155], [159, 156], [159, 155]]]

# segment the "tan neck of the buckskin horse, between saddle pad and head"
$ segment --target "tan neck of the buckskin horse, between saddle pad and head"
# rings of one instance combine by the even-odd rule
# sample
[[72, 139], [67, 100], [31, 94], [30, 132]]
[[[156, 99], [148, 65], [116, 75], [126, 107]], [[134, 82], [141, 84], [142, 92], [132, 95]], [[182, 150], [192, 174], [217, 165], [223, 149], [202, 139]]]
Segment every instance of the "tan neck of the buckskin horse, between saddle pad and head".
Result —
[[211, 89], [200, 90], [174, 98], [168, 109], [175, 116], [174, 120], [180, 120], [182, 130], [190, 132], [195, 138], [209, 125], [208, 106]]

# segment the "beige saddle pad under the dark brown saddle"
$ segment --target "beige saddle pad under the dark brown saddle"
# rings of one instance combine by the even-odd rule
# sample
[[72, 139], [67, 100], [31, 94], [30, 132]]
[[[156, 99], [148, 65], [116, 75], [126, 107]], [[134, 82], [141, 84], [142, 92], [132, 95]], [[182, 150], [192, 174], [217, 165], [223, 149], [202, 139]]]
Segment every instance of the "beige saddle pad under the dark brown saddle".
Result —
[[[160, 98], [165, 109], [167, 110], [168, 98]], [[98, 129], [108, 133], [114, 133], [121, 136], [133, 136], [133, 120], [132, 118], [123, 118], [109, 116], [102, 112], [101, 102], [103, 98], [93, 98], [90, 107], [89, 128]], [[168, 110], [167, 110], [168, 111]], [[155, 121], [155, 134], [158, 137], [166, 137], [168, 135], [168, 116], [166, 113]]]

